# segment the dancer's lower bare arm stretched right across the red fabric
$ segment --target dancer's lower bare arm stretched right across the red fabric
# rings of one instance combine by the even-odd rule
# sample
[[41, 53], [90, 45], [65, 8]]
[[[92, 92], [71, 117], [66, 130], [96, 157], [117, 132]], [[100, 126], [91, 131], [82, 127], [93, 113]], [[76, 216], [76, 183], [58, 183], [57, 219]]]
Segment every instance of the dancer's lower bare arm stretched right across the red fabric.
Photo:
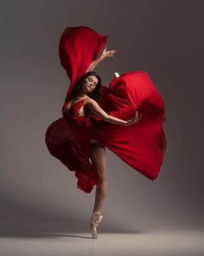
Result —
[[98, 115], [104, 121], [108, 121], [108, 122], [112, 122], [112, 123], [116, 123], [116, 124], [129, 126], [129, 125], [139, 121], [139, 119], [142, 117], [142, 114], [140, 116], [138, 116], [138, 113], [136, 111], [136, 115], [134, 115], [134, 117], [131, 120], [124, 121], [124, 120], [119, 119], [113, 115], [108, 115], [102, 108], [99, 107], [99, 104], [97, 102], [93, 101], [92, 99], [90, 99], [89, 102], [87, 102], [87, 104], [92, 109], [92, 112], [95, 115]]

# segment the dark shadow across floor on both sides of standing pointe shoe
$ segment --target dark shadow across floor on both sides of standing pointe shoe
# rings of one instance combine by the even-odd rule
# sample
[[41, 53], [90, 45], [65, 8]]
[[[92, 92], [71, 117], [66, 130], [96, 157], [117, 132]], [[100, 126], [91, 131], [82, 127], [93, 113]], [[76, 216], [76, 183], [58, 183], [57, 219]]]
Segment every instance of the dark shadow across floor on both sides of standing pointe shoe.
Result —
[[[23, 221], [23, 222], [4, 222], [0, 223], [0, 237], [10, 238], [80, 238], [80, 239], [92, 239], [89, 223], [84, 221], [78, 222], [61, 222], [61, 221]], [[102, 226], [103, 224], [103, 226]], [[98, 226], [99, 233], [145, 233], [141, 230], [127, 230], [119, 228], [117, 226], [110, 225], [110, 223], [101, 223]], [[79, 235], [78, 235], [79, 233]], [[89, 235], [83, 235], [83, 233], [90, 233]]]

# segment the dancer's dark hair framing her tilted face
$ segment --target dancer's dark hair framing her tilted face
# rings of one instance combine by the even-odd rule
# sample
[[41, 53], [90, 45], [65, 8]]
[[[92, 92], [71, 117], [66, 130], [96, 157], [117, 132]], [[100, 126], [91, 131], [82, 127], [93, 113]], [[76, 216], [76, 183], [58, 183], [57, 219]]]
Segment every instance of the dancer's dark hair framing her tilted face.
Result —
[[83, 83], [85, 82], [86, 77], [88, 77], [89, 75], [96, 76], [98, 78], [98, 83], [97, 83], [96, 87], [92, 90], [92, 92], [87, 93], [87, 95], [90, 98], [92, 98], [94, 101], [99, 102], [99, 100], [101, 98], [101, 87], [102, 87], [102, 85], [101, 85], [101, 78], [94, 71], [88, 71], [88, 72], [86, 72], [84, 75], [82, 75], [80, 77], [80, 79], [75, 83], [75, 85], [73, 87], [73, 90], [72, 90], [72, 93], [70, 95], [70, 98], [78, 95], [78, 93], [81, 90], [81, 87], [82, 87]]

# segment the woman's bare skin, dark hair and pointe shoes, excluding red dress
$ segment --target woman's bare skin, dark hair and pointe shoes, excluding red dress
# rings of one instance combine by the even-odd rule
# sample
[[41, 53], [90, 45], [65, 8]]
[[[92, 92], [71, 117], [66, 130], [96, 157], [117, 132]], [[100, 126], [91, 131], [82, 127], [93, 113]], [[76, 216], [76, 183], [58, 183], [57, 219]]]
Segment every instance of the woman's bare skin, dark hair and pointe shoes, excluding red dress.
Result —
[[[131, 124], [136, 123], [142, 117], [142, 114], [138, 116], [136, 114], [130, 121], [124, 121], [112, 115], [107, 115], [107, 113], [99, 107], [99, 104], [96, 100], [99, 100], [99, 91], [101, 87], [101, 79], [97, 73], [93, 72], [99, 62], [105, 60], [106, 57], [112, 57], [116, 53], [116, 50], [106, 51], [106, 47], [103, 50], [101, 56], [99, 56], [91, 65], [86, 69], [86, 74], [80, 78], [80, 81], [75, 85], [72, 93], [71, 100], [67, 103], [67, 111], [72, 109], [72, 106], [77, 102], [83, 100], [83, 105], [80, 106], [80, 111], [78, 115], [85, 116], [91, 111], [98, 115], [104, 121], [130, 126]], [[115, 72], [115, 76], [119, 76], [118, 72]], [[85, 101], [86, 100], [86, 101]], [[92, 211], [91, 218], [91, 229], [92, 229], [92, 238], [97, 238], [97, 228], [99, 222], [102, 221], [103, 216], [101, 215], [101, 209], [105, 196], [107, 194], [107, 175], [106, 175], [106, 156], [105, 156], [105, 146], [98, 141], [91, 140], [91, 161], [92, 164], [96, 167], [98, 173], [98, 184], [95, 194], [95, 203]]]

